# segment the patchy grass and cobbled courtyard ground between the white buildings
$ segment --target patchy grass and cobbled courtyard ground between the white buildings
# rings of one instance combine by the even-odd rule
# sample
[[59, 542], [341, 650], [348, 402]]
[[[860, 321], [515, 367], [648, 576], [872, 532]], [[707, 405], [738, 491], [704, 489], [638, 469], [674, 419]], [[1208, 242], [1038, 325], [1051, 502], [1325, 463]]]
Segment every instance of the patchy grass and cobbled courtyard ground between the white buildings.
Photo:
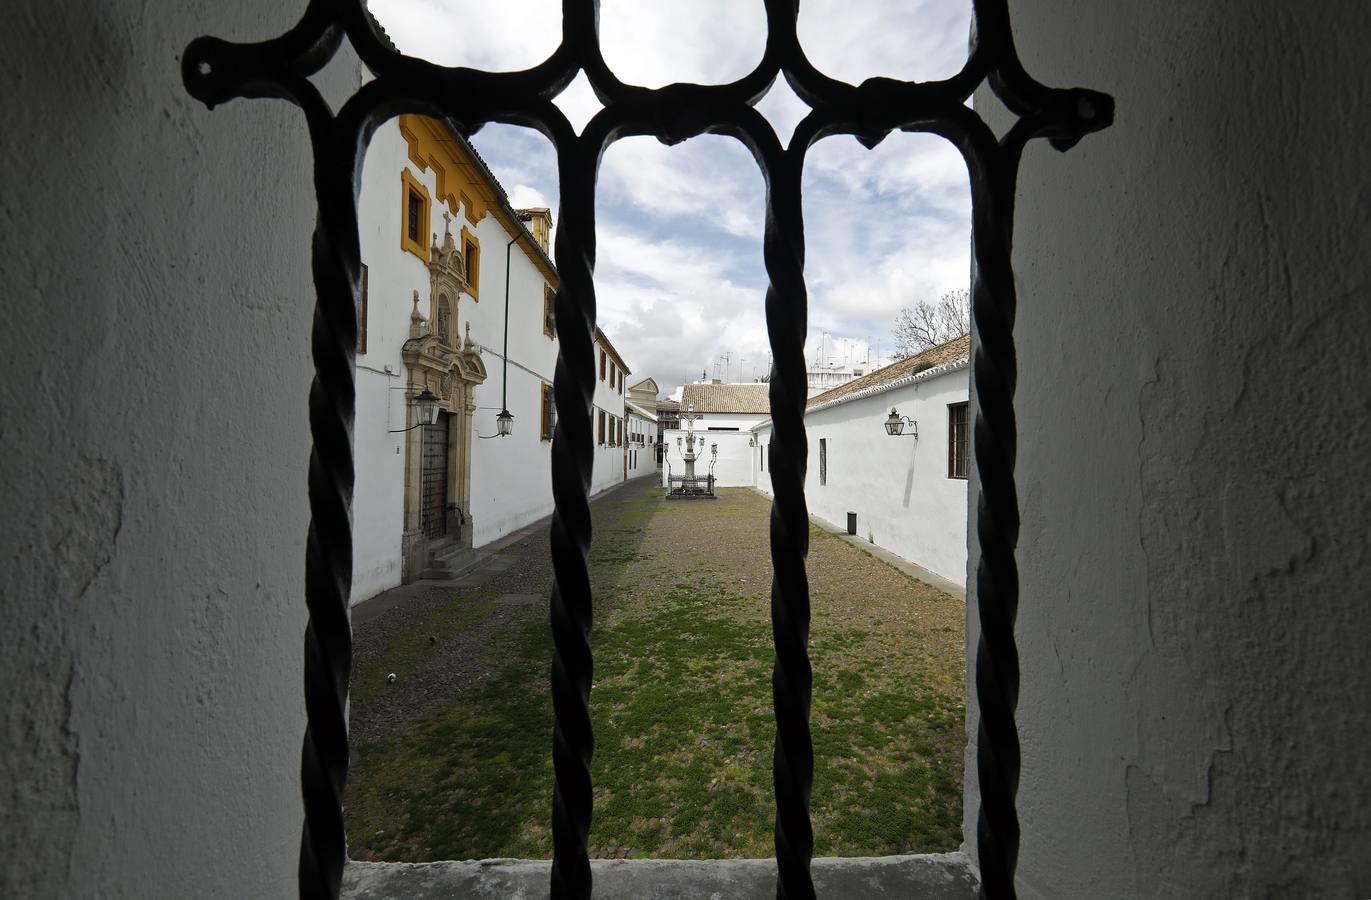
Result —
[[[592, 505], [592, 855], [772, 856], [769, 502], [648, 482]], [[956, 849], [965, 606], [810, 532], [814, 852]], [[358, 627], [352, 859], [550, 856], [546, 545]]]

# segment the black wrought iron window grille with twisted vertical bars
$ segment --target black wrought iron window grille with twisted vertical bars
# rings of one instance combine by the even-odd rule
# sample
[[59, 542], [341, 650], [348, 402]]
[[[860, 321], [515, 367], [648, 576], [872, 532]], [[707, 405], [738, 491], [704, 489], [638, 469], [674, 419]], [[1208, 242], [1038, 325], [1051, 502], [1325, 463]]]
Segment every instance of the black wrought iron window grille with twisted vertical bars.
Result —
[[[869, 78], [850, 85], [814, 69], [797, 36], [798, 0], [764, 0], [766, 48], [757, 67], [731, 84], [672, 84], [648, 89], [620, 81], [605, 63], [595, 0], [563, 0], [562, 41], [543, 63], [515, 73], [437, 66], [402, 55], [380, 32], [365, 0], [310, 0], [285, 34], [232, 44], [192, 41], [182, 56], [186, 89], [208, 107], [237, 97], [282, 97], [306, 117], [314, 150], [318, 224], [313, 239], [315, 307], [310, 391], [310, 534], [306, 553], [304, 700], [302, 748], [304, 827], [302, 897], [337, 897], [347, 841], [347, 694], [352, 638], [356, 303], [361, 283], [356, 191], [362, 158], [376, 129], [402, 113], [446, 118], [459, 132], [488, 122], [537, 129], [555, 147], [561, 221], [555, 261], [561, 274], [554, 314], [559, 328], [554, 398], [551, 549], [554, 587], [551, 691], [554, 792], [551, 896], [591, 896], [587, 834], [591, 823], [590, 719], [592, 589], [587, 569], [591, 517], [587, 490], [594, 461], [595, 365], [595, 177], [617, 139], [651, 134], [666, 144], [714, 133], [739, 140], [766, 185], [762, 257], [769, 279], [766, 327], [773, 376], [771, 479], [772, 631], [776, 663], [773, 783], [776, 792], [777, 896], [813, 897], [813, 830], [809, 797], [813, 748], [809, 731], [812, 672], [808, 654], [809, 549], [805, 506], [808, 442], [803, 410], [806, 289], [801, 171], [809, 147], [829, 134], [853, 134], [875, 147], [894, 130], [939, 134], [961, 152], [972, 198], [972, 377], [976, 387], [973, 453], [978, 473], [976, 597], [980, 638], [975, 690], [980, 707], [976, 772], [980, 809], [976, 853], [983, 897], [1013, 897], [1019, 855], [1019, 657], [1015, 617], [1019, 572], [1019, 501], [1015, 488], [1017, 365], [1010, 244], [1015, 185], [1026, 144], [1045, 137], [1058, 150], [1108, 126], [1113, 100], [1034, 80], [1013, 45], [1008, 0], [973, 0], [971, 48], [961, 71], [942, 81]], [[310, 75], [344, 37], [374, 78], [333, 111]], [[603, 108], [577, 136], [553, 99], [584, 71]], [[810, 113], [787, 145], [753, 108], [783, 75]], [[965, 100], [983, 82], [1016, 121], [997, 139]]]

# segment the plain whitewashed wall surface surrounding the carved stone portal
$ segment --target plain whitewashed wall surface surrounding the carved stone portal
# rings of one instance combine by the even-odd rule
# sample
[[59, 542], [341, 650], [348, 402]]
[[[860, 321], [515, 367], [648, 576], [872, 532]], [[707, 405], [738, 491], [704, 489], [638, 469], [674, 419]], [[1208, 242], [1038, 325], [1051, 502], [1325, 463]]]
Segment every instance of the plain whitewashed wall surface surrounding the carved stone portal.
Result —
[[[418, 171], [409, 161], [399, 125], [381, 126], [367, 150], [359, 198], [362, 262], [369, 268], [367, 351], [358, 355], [358, 414], [354, 443], [358, 465], [354, 499], [354, 589], [359, 602], [400, 583], [400, 536], [404, 510], [404, 439], [388, 434], [404, 428], [406, 369], [400, 347], [409, 338], [413, 294], [420, 314], [432, 322], [428, 266], [400, 250], [400, 169], [436, 195], [433, 171]], [[444, 230], [444, 203], [430, 204], [426, 235]], [[557, 340], [543, 333], [542, 272], [520, 244], [510, 251], [509, 390], [514, 434], [495, 435], [495, 416], [505, 388], [505, 252], [510, 233], [494, 215], [472, 225], [465, 210], [451, 211], [454, 239], [466, 226], [480, 240], [480, 299], [462, 295], [457, 333], [481, 346], [487, 380], [476, 388], [473, 417], [472, 497], [473, 545], [483, 546], [553, 509], [548, 469], [551, 443], [539, 438], [543, 381], [551, 383]], [[528, 240], [526, 237], [522, 240]], [[389, 366], [391, 373], [385, 373]], [[402, 390], [392, 390], [402, 388]]]

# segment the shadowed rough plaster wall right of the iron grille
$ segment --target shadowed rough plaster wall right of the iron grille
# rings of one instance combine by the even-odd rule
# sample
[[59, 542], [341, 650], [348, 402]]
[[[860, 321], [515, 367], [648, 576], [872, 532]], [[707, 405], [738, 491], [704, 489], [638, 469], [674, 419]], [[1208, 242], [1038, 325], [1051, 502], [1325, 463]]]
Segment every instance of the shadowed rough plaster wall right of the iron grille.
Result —
[[1021, 896], [1371, 896], [1371, 7], [1010, 7]]

